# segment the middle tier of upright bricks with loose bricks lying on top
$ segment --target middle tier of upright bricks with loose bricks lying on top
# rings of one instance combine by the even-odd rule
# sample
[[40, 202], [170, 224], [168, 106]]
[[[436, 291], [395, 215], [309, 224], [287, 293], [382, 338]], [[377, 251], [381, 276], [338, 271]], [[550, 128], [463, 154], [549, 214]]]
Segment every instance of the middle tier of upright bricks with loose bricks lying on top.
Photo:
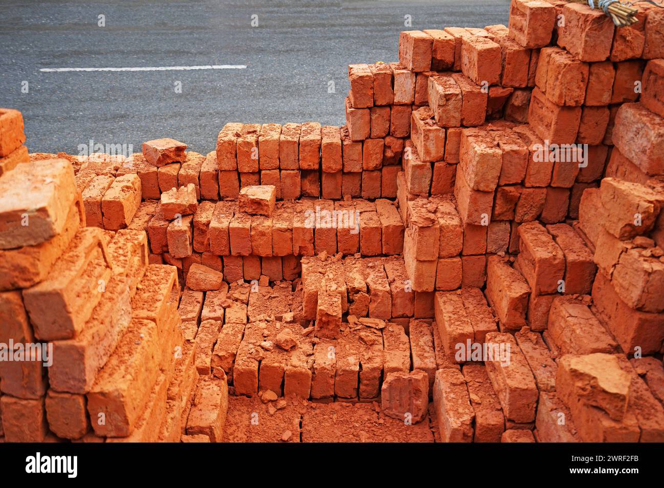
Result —
[[[248, 197], [254, 191], [268, 192], [269, 212], [248, 207], [246, 202], [260, 200]], [[402, 251], [403, 224], [386, 199], [276, 202], [275, 196], [274, 185], [245, 187], [237, 201], [203, 201], [192, 207], [193, 215], [169, 223], [162, 210], [169, 197], [162, 194], [156, 206], [145, 204], [145, 218], [155, 213], [147, 222], [152, 259], [177, 266], [185, 277], [191, 264], [197, 263], [223, 272], [229, 283], [261, 276], [276, 282], [297, 277], [300, 256], [323, 252], [381, 256]]]

